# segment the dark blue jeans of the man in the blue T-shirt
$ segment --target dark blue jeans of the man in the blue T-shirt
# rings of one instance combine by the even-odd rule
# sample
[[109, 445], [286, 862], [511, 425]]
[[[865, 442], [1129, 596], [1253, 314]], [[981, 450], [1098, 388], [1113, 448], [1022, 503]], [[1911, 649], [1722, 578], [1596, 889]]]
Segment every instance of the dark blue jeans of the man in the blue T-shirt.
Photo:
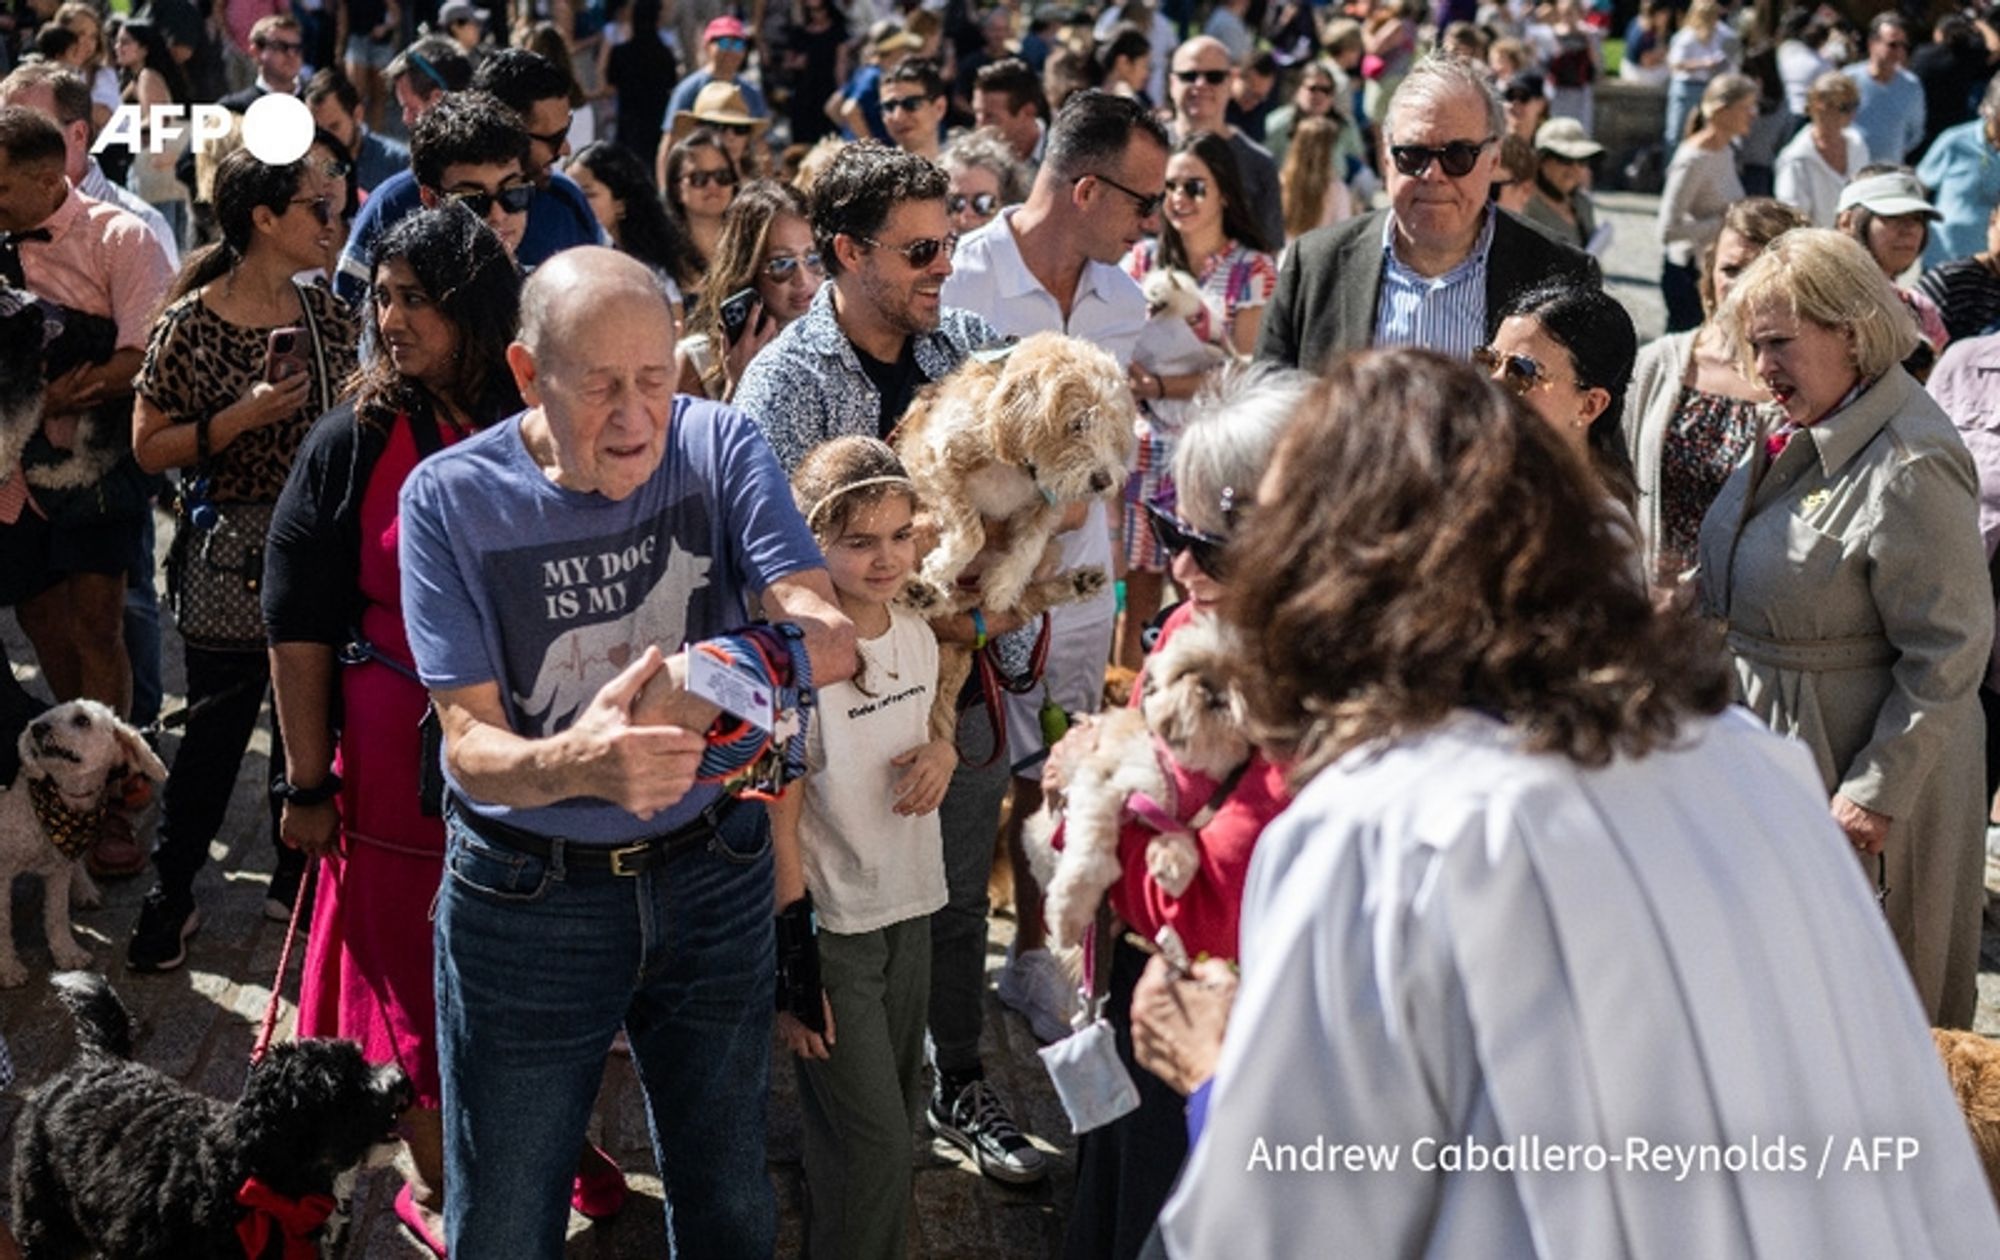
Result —
[[776, 1246], [764, 1168], [770, 822], [638, 876], [566, 870], [446, 820], [438, 890], [444, 1230], [452, 1256], [562, 1256], [570, 1178], [612, 1034], [646, 1092], [672, 1256]]

